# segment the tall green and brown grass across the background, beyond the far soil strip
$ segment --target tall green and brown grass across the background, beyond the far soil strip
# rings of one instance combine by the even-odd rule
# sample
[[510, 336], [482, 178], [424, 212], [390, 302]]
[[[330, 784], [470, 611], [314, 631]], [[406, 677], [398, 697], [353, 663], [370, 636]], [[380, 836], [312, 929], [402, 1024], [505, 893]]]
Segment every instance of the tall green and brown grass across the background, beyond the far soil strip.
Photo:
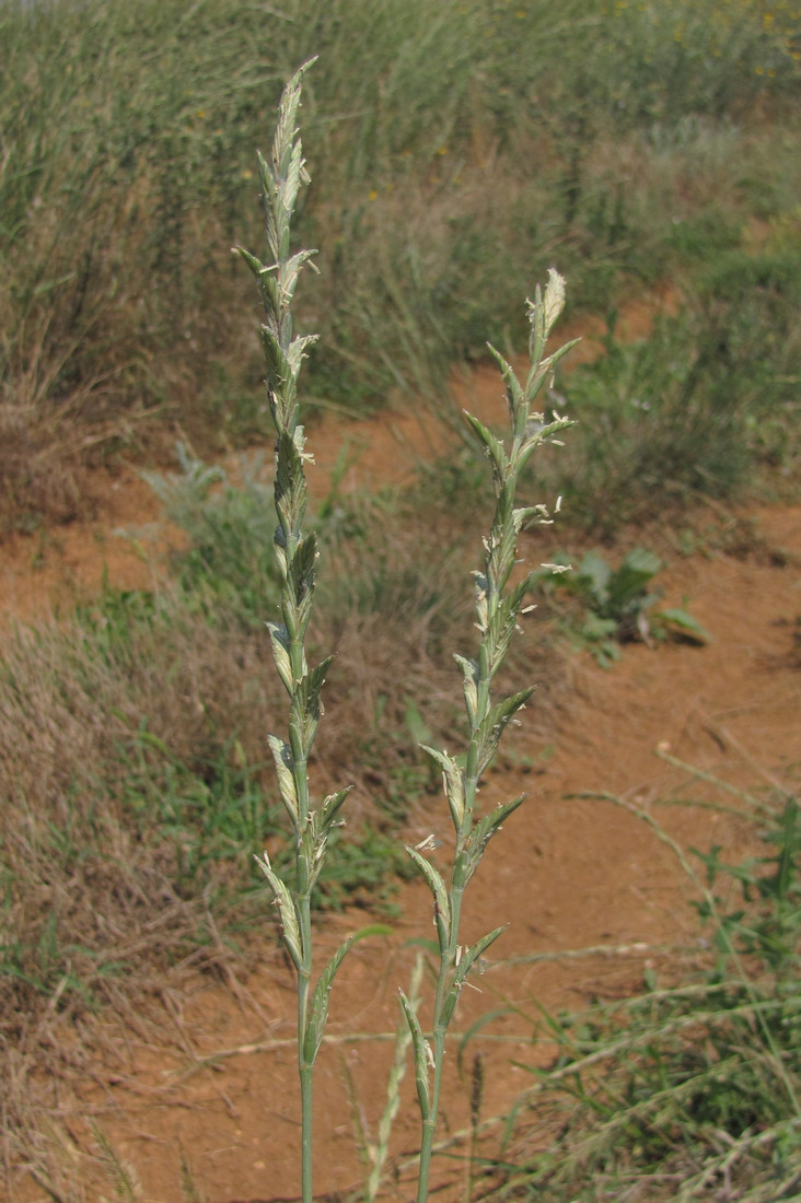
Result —
[[[756, 391], [771, 413], [787, 405], [790, 0], [5, 0], [0, 40], [6, 529], [75, 514], [82, 464], [176, 423], [201, 454], [264, 433], [229, 248], [260, 243], [254, 148], [312, 53], [298, 230], [320, 250], [300, 298], [322, 334], [311, 404], [364, 411], [397, 390], [436, 403], [449, 365], [487, 339], [522, 345], [518, 297], [558, 262], [573, 303], [612, 330], [623, 297], [682, 288], [676, 327], [603, 381], [623, 393], [616, 442], [665, 369], [666, 438], [690, 402], [679, 444], [722, 405], [736, 442]], [[776, 428], [750, 433], [781, 455]], [[695, 470], [681, 445], [676, 458], [679, 488], [746, 468], [743, 454]]]

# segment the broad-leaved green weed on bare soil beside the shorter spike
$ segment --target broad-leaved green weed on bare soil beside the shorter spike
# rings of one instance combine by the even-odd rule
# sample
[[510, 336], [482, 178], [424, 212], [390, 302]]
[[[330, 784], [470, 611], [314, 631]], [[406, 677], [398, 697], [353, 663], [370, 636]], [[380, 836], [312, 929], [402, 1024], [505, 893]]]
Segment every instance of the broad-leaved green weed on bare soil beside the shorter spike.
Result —
[[576, 568], [569, 556], [556, 552], [554, 565], [559, 574], [550, 575], [550, 569], [540, 574], [540, 587], [547, 593], [564, 591], [578, 599], [584, 614], [569, 629], [603, 668], [619, 658], [619, 645], [630, 640], [650, 644], [681, 635], [706, 642], [709, 638], [685, 610], [653, 610], [659, 593], [649, 592], [649, 586], [662, 562], [644, 547], [626, 552], [614, 569], [597, 551], [588, 551]]

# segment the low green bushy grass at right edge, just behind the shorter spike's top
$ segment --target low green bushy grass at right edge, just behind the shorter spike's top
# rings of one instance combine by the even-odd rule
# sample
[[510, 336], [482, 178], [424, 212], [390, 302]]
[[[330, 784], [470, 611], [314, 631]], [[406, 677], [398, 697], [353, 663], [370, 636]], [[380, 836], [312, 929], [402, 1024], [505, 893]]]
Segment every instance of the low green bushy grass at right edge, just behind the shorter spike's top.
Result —
[[695, 310], [642, 342], [619, 343], [612, 314], [606, 354], [567, 381], [581, 425], [559, 488], [591, 529], [730, 497], [760, 464], [788, 473], [797, 460], [793, 271], [742, 254], [723, 262]]

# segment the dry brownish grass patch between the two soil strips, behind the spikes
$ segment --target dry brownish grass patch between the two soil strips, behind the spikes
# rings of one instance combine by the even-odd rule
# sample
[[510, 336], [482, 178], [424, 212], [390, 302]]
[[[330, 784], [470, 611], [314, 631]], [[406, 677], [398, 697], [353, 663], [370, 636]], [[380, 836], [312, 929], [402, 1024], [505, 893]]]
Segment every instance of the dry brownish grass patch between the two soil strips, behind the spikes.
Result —
[[[426, 526], [430, 509], [399, 506], [390, 517], [354, 502], [330, 520], [323, 546], [323, 617], [311, 639], [337, 659], [314, 780], [355, 783], [348, 841], [364, 822], [377, 832], [414, 828], [429, 790], [441, 789], [414, 745], [453, 730], [450, 645], [470, 640], [475, 549], [448, 514], [454, 550], [432, 589], [424, 565], [444, 532]], [[248, 853], [265, 837], [283, 846], [264, 764], [281, 704], [267, 640], [224, 606], [217, 620], [210, 624], [200, 594], [173, 585], [155, 598], [110, 593], [72, 622], [20, 630], [4, 647], [6, 1156], [36, 1161], [53, 1183], [58, 1165], [69, 1179], [69, 1157], [46, 1133], [59, 1081], [84, 1072], [94, 1013], [137, 1014], [137, 1000], [170, 974], [179, 980], [181, 966], [226, 976], [253, 914]], [[540, 644], [519, 654], [516, 677], [547, 680]], [[231, 818], [248, 808], [251, 826]], [[359, 899], [365, 889], [355, 887]]]

